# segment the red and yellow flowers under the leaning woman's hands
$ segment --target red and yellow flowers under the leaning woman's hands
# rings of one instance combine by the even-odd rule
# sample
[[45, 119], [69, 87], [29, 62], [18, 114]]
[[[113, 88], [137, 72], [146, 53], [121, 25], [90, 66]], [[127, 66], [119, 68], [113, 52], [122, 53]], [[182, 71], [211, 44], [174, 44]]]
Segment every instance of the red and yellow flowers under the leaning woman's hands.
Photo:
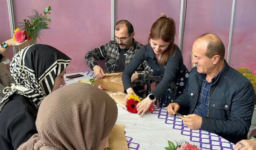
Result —
[[[141, 102], [139, 96], [135, 96], [133, 94], [129, 94], [129, 98], [126, 101], [126, 108], [128, 112], [136, 114], [138, 111], [136, 109], [137, 104]], [[151, 104], [148, 108], [148, 112], [154, 111], [154, 104]]]

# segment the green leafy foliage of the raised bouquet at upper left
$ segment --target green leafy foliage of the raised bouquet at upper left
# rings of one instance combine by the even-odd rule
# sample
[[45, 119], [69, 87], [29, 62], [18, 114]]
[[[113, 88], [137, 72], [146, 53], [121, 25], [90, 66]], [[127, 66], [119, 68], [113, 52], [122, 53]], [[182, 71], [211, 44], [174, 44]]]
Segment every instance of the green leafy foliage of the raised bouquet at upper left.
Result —
[[21, 30], [25, 30], [28, 33], [28, 37], [31, 37], [33, 40], [40, 38], [42, 30], [50, 29], [48, 23], [51, 22], [51, 18], [47, 16], [51, 14], [50, 10], [52, 10], [51, 6], [44, 9], [44, 14], [39, 14], [37, 10], [32, 10], [33, 15], [28, 16], [28, 19], [24, 19], [24, 22], [21, 23]]

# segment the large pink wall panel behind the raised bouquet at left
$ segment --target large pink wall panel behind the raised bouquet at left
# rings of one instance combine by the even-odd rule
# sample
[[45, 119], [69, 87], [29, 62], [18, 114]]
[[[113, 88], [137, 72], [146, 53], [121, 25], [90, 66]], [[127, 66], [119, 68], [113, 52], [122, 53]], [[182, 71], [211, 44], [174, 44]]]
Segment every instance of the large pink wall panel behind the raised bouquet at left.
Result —
[[16, 22], [31, 15], [31, 9], [42, 13], [46, 6], [52, 7], [51, 29], [44, 30], [37, 43], [54, 46], [72, 58], [67, 73], [89, 70], [86, 52], [111, 39], [111, 0], [15, 0], [14, 4]]

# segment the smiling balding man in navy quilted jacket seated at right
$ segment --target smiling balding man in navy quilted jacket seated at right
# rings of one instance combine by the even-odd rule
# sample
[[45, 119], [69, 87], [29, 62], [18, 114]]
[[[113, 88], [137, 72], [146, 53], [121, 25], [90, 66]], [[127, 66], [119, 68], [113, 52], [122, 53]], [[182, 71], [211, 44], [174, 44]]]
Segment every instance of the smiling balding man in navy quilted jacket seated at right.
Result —
[[225, 47], [215, 34], [204, 34], [192, 47], [194, 58], [186, 89], [167, 107], [174, 115], [189, 109], [183, 124], [202, 129], [232, 143], [247, 139], [254, 111], [254, 89], [249, 80], [224, 59]]

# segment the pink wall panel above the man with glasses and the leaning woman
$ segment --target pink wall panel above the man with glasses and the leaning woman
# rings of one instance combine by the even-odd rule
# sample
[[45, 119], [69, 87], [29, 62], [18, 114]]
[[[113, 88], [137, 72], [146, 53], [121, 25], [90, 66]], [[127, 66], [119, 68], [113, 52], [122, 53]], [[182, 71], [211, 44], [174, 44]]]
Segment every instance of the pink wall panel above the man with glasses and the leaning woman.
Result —
[[134, 39], [141, 44], [148, 43], [148, 36], [152, 24], [163, 12], [176, 22], [176, 39], [180, 26], [180, 1], [179, 0], [116, 0], [116, 22], [128, 20], [134, 27]]

